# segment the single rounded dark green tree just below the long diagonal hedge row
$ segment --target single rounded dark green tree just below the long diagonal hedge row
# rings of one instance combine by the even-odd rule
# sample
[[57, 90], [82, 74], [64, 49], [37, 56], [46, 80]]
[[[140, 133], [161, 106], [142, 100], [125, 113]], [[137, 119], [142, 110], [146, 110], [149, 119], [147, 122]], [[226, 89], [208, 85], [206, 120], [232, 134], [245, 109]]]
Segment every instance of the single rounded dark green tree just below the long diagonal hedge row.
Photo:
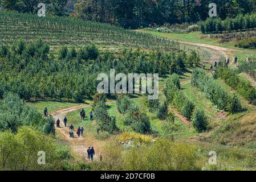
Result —
[[199, 133], [208, 129], [208, 117], [205, 115], [204, 110], [197, 109], [194, 111], [192, 125]]

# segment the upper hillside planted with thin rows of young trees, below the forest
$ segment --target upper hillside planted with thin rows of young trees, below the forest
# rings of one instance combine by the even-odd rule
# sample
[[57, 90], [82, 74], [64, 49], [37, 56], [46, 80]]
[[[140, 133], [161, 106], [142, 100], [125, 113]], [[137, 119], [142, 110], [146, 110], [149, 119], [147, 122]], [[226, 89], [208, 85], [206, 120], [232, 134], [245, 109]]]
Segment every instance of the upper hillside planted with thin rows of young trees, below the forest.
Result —
[[42, 38], [51, 46], [63, 44], [79, 46], [85, 43], [146, 49], [172, 49], [178, 46], [172, 40], [125, 30], [110, 24], [86, 22], [74, 18], [40, 18], [31, 14], [0, 11], [0, 22], [2, 43], [13, 43], [21, 38], [27, 41]]

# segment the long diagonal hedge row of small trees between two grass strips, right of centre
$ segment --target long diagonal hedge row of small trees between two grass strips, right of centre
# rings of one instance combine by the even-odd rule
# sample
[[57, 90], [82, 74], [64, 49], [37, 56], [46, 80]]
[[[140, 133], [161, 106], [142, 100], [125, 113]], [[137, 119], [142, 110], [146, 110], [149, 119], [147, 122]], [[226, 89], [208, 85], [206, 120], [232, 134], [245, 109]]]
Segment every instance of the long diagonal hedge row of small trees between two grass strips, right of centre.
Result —
[[218, 109], [236, 113], [241, 110], [241, 102], [235, 94], [231, 95], [213, 78], [200, 69], [194, 69], [192, 85], [199, 88]]

